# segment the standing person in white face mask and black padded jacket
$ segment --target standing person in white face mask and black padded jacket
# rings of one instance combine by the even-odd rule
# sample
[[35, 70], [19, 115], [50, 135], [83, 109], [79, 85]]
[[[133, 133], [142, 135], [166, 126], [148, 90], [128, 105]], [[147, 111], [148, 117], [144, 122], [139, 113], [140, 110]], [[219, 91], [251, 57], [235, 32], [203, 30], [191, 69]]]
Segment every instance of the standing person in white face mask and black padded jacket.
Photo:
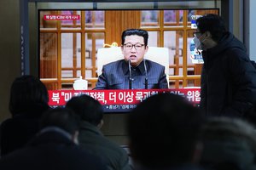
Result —
[[207, 14], [196, 20], [195, 47], [201, 49], [201, 110], [207, 116], [239, 116], [253, 121], [256, 70], [246, 48], [226, 31], [224, 20]]

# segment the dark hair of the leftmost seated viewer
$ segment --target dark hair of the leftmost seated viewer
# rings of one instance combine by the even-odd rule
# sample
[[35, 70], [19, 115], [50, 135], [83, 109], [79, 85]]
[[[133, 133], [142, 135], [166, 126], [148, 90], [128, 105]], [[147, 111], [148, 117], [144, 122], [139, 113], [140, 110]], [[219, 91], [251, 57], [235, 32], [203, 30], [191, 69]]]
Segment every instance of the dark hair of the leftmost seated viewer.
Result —
[[48, 102], [49, 96], [47, 88], [38, 77], [31, 75], [17, 77], [12, 83], [9, 111], [13, 116], [39, 105], [48, 109]]

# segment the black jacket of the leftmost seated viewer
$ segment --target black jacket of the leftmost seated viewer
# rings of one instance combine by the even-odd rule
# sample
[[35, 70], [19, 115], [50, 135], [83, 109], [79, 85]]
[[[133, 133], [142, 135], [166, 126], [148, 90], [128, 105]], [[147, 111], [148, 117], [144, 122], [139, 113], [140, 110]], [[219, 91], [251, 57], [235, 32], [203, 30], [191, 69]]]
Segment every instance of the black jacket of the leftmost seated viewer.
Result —
[[38, 133], [39, 119], [48, 105], [31, 105], [26, 111], [15, 114], [0, 126], [1, 156], [18, 150]]

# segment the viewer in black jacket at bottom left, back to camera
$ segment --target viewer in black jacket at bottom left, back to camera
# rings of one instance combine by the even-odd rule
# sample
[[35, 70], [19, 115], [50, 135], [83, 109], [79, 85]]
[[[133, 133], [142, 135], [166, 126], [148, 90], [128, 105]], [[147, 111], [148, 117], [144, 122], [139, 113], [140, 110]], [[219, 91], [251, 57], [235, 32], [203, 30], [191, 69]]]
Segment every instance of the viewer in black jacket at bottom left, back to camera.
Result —
[[23, 149], [0, 159], [1, 170], [105, 170], [100, 158], [79, 148], [79, 118], [73, 111], [55, 109], [41, 119], [42, 130]]

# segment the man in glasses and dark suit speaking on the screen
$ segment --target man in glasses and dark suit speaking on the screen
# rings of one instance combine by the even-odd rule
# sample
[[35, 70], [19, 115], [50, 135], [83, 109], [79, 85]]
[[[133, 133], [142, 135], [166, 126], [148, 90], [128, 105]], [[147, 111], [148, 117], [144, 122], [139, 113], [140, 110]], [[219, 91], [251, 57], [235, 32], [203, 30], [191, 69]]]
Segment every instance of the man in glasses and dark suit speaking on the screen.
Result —
[[148, 31], [129, 29], [122, 33], [124, 59], [103, 65], [94, 89], [168, 88], [165, 67], [148, 59]]

